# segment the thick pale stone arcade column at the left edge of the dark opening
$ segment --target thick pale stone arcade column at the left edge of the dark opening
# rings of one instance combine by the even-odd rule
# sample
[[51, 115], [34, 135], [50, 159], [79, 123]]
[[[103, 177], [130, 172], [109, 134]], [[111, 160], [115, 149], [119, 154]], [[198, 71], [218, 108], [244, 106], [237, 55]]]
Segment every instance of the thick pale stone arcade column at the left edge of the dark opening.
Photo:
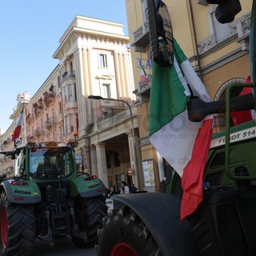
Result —
[[98, 166], [98, 178], [102, 180], [104, 185], [108, 188], [109, 182], [107, 178], [107, 169], [106, 169], [106, 150], [105, 143], [98, 142], [96, 146], [96, 157], [97, 157], [97, 166]]

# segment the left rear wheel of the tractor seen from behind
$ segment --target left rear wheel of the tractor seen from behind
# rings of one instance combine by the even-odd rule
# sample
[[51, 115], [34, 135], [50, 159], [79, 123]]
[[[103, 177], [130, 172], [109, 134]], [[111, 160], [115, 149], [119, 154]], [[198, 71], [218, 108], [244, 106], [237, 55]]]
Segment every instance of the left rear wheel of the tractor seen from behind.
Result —
[[33, 205], [11, 203], [2, 192], [0, 198], [0, 254], [22, 256], [34, 253], [36, 236]]

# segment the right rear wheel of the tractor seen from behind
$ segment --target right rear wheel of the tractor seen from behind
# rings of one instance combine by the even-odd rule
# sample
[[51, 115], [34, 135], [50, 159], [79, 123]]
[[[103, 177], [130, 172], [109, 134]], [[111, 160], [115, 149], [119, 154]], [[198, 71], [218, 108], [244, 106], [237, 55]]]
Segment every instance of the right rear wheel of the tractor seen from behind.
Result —
[[76, 222], [80, 232], [86, 233], [83, 238], [72, 235], [72, 241], [78, 247], [87, 248], [98, 242], [97, 230], [102, 228], [102, 218], [107, 214], [103, 196], [97, 198], [78, 198], [75, 202]]

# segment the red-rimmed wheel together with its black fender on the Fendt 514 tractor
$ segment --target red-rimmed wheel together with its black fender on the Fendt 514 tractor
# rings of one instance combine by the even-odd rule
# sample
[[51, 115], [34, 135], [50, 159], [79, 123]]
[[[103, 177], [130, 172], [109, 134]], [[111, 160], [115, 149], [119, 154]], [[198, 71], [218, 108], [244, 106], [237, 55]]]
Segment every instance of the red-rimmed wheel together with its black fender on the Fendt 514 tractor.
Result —
[[98, 256], [198, 256], [181, 199], [166, 193], [114, 195], [115, 209], [98, 230]]

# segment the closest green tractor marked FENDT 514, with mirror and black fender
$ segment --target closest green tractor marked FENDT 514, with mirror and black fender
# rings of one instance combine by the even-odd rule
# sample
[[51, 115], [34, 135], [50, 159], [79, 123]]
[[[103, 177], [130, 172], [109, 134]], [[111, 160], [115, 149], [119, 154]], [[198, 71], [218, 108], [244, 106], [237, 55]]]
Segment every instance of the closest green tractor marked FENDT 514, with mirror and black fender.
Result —
[[[235, 0], [206, 0], [224, 5], [218, 8], [218, 18], [230, 22], [226, 12], [233, 11]], [[230, 3], [235, 6], [231, 6]], [[148, 0], [149, 32], [153, 58], [162, 66], [170, 66], [171, 45], [158, 34], [170, 30], [161, 22], [168, 19], [166, 12], [158, 17], [161, 0]], [[234, 7], [234, 9], [232, 9]], [[234, 10], [234, 13], [237, 10]], [[187, 105], [192, 122], [206, 114], [239, 110], [255, 110], [255, 92], [230, 98], [230, 90], [250, 86], [255, 90], [256, 69], [256, 1], [253, 1], [250, 23], [250, 79], [248, 84], [233, 84], [226, 90], [226, 101], [202, 102], [191, 98]], [[151, 16], [150, 16], [151, 15]], [[232, 15], [231, 15], [232, 16]], [[154, 21], [152, 21], [154, 19]], [[157, 21], [155, 21], [157, 20]], [[166, 31], [167, 34], [168, 31]], [[168, 38], [167, 38], [168, 39]], [[203, 200], [193, 214], [181, 221], [181, 178], [170, 172], [170, 193], [135, 193], [114, 195], [114, 210], [103, 218], [98, 230], [98, 256], [253, 256], [256, 254], [256, 123], [255, 120], [238, 126], [230, 125], [214, 134], [203, 175]]]

